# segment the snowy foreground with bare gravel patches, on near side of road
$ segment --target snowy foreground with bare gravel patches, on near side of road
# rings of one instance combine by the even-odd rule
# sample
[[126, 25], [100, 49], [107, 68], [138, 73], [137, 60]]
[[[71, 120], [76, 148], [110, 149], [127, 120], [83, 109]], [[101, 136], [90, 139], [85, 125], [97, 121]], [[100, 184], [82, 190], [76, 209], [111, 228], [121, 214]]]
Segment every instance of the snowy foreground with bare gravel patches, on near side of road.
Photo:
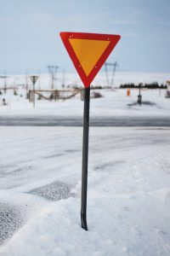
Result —
[[[170, 255], [170, 129], [0, 127], [0, 255]], [[3, 228], [2, 228], [3, 227]]]

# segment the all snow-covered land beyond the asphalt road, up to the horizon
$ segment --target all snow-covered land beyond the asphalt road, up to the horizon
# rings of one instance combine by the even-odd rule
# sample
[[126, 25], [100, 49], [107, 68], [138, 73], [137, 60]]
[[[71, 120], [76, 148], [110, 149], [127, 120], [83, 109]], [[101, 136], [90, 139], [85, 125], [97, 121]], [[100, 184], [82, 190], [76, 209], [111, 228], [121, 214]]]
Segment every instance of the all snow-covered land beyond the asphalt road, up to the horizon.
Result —
[[[82, 86], [77, 74], [65, 74], [65, 84]], [[121, 73], [117, 72], [115, 76], [114, 86], [119, 87], [124, 83], [152, 83], [158, 82], [165, 84], [169, 79], [169, 73]], [[28, 87], [32, 89], [31, 81], [28, 79]], [[58, 79], [55, 81], [54, 87], [61, 88], [62, 73], [59, 73]], [[59, 102], [48, 102], [45, 100], [37, 101], [36, 108], [33, 104], [26, 100], [26, 89], [23, 89], [23, 84], [26, 87], [25, 76], [11, 76], [7, 79], [8, 87], [14, 87], [14, 84], [20, 84], [17, 90], [17, 96], [14, 96], [14, 90], [7, 90], [7, 93], [0, 95], [0, 116], [62, 116], [82, 117], [83, 102], [80, 100], [80, 95], [71, 98], [70, 100]], [[47, 74], [42, 74], [39, 81], [37, 80], [36, 88], [49, 89], [50, 79]], [[94, 85], [105, 85], [105, 73], [99, 73], [94, 79]], [[3, 79], [0, 80], [0, 88], [3, 88]], [[3, 90], [2, 90], [3, 92]], [[131, 90], [131, 96], [127, 96], [127, 90], [98, 90], [103, 96], [98, 99], [91, 99], [90, 115], [91, 116], [169, 116], [170, 115], [170, 99], [165, 98], [166, 90], [142, 90], [144, 104], [138, 106], [137, 96], [139, 90]], [[91, 94], [93, 95], [93, 91]], [[50, 93], [47, 95], [49, 96]], [[3, 106], [3, 98], [8, 103]]]

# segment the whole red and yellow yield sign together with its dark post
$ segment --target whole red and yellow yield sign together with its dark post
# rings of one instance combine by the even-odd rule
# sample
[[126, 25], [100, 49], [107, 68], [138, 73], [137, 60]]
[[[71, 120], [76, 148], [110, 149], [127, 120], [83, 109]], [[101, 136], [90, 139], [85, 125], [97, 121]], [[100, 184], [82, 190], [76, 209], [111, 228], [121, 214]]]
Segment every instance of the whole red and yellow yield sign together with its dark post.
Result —
[[60, 32], [65, 49], [82, 79], [84, 89], [84, 117], [82, 138], [82, 229], [88, 230], [87, 192], [88, 192], [88, 131], [90, 84], [104, 65], [106, 59], [120, 40], [119, 35], [106, 35], [81, 32]]

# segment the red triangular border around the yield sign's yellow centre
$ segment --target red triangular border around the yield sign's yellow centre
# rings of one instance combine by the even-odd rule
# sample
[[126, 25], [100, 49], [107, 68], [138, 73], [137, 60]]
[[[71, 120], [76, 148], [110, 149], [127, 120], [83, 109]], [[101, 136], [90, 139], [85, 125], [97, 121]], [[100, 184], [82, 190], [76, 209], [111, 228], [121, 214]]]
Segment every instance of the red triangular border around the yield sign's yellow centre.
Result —
[[[77, 73], [82, 79], [82, 83], [86, 88], [88, 88], [91, 82], [94, 80], [97, 73], [99, 73], [99, 69], [104, 65], [106, 59], [111, 54], [111, 51], [115, 48], [116, 44], [120, 40], [120, 35], [110, 35], [110, 34], [96, 34], [96, 33], [82, 33], [82, 32], [60, 32], [59, 33], [63, 44], [65, 45], [65, 49], [71, 57], [71, 61], [77, 69]], [[69, 39], [90, 39], [90, 40], [103, 40], [110, 41], [110, 44], [107, 46], [103, 54], [99, 57], [99, 61], [97, 61], [96, 65], [92, 69], [92, 71], [86, 75], [81, 66], [81, 63], [77, 59], [77, 55], [74, 52], [74, 49], [69, 42]]]

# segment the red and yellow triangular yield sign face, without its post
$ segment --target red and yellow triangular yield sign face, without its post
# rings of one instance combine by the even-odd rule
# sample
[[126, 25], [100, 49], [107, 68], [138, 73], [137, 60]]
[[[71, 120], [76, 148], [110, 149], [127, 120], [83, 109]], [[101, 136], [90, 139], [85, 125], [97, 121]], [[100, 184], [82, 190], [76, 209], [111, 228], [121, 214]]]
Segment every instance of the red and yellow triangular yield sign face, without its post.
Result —
[[121, 38], [119, 35], [80, 32], [60, 32], [60, 37], [86, 88]]

